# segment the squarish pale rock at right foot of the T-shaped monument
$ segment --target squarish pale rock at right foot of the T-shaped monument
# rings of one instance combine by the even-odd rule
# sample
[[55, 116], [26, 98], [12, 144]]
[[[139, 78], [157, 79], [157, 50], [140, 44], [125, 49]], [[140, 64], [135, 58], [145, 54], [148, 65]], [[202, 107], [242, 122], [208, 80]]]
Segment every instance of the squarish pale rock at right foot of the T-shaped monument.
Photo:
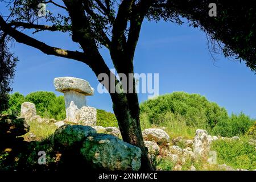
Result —
[[80, 109], [81, 125], [96, 126], [97, 122], [97, 109], [94, 107], [84, 106]]

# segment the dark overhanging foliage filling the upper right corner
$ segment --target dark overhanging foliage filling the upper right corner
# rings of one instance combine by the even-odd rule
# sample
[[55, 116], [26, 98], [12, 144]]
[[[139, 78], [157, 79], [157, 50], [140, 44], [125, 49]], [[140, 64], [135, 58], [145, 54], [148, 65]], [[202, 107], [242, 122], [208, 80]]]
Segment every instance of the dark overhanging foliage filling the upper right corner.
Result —
[[[208, 14], [210, 3], [217, 5], [216, 17]], [[224, 56], [244, 60], [247, 67], [256, 71], [255, 1], [160, 0], [154, 2], [147, 16], [154, 20], [172, 20], [177, 15], [207, 32], [212, 51], [220, 49]]]

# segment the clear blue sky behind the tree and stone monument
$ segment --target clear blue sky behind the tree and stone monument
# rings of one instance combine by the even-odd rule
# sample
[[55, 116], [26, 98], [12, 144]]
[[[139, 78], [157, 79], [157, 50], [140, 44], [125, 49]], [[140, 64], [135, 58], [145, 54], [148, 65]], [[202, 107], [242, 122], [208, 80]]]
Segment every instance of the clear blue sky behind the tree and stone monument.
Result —
[[[31, 35], [30, 31], [24, 31]], [[40, 32], [33, 35], [51, 46], [78, 50], [68, 34]], [[83, 78], [96, 89], [88, 97], [88, 105], [112, 111], [109, 94], [97, 93], [97, 77], [85, 64], [55, 56], [15, 43], [15, 55], [19, 57], [13, 92], [24, 95], [38, 90], [55, 92], [55, 77]], [[108, 51], [101, 49], [110, 68], [114, 68]], [[210, 57], [204, 32], [170, 22], [143, 23], [134, 59], [136, 73], [159, 73], [159, 94], [184, 91], [199, 93], [208, 100], [225, 107], [229, 114], [240, 113], [256, 118], [256, 76], [244, 63], [226, 59], [221, 54]], [[58, 96], [59, 92], [55, 92]], [[147, 94], [139, 94], [139, 101], [147, 100]]]

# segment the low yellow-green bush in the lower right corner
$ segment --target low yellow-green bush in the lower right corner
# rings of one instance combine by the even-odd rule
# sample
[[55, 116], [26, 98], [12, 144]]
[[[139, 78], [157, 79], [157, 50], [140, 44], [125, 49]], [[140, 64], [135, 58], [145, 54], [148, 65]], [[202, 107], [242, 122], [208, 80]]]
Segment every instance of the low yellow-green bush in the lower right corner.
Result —
[[255, 169], [255, 147], [246, 138], [241, 140], [216, 140], [212, 150], [217, 152], [219, 164], [227, 164], [233, 168]]

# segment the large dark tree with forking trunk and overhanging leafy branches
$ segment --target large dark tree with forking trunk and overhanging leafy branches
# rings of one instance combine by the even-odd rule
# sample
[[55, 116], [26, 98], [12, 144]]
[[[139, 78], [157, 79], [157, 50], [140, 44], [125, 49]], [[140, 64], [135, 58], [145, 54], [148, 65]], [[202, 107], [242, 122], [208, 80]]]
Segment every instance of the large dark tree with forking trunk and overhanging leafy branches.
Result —
[[[39, 17], [39, 3], [51, 4], [56, 9], [61, 9], [63, 13], [47, 13], [45, 17]], [[135, 79], [133, 78], [133, 84], [128, 88], [133, 90], [133, 93], [111, 93], [112, 86], [122, 81], [110, 72], [99, 48], [104, 46], [109, 49], [117, 73], [129, 77], [129, 73], [134, 73], [133, 58], [143, 20], [164, 19], [181, 24], [183, 22], [180, 18], [183, 17], [187, 18], [192, 26], [201, 27], [220, 46], [224, 43], [223, 51], [226, 56], [236, 55], [255, 71], [254, 3], [243, 4], [242, 1], [233, 1], [229, 4], [225, 1], [216, 1], [217, 17], [209, 16], [209, 3], [211, 1], [207, 0], [63, 0], [58, 4], [55, 1], [12, 0], [9, 3], [9, 18], [4, 19], [0, 16], [0, 27], [2, 32], [16, 42], [37, 48], [47, 55], [81, 61], [89, 65], [96, 76], [105, 73], [109, 77], [114, 77], [114, 85], [109, 81], [109, 84], [104, 86], [112, 98], [122, 138], [125, 142], [141, 148], [142, 169], [150, 170], [152, 166], [147, 156], [147, 148], [144, 147], [139, 123]], [[238, 9], [240, 11], [233, 12]], [[46, 24], [36, 23], [38, 19], [43, 19]], [[73, 42], [79, 44], [80, 51], [51, 47], [24, 34], [21, 31], [24, 28], [34, 29], [34, 33], [69, 32]]]

